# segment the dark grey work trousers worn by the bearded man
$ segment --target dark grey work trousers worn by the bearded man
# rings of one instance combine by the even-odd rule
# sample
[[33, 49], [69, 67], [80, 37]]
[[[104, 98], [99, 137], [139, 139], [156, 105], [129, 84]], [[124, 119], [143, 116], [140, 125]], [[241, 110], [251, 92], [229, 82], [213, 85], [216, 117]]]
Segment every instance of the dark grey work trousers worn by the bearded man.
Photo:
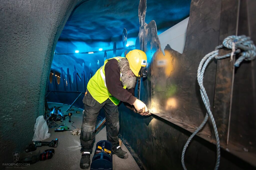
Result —
[[103, 103], [96, 101], [92, 95], [87, 91], [86, 96], [83, 98], [84, 112], [83, 123], [81, 127], [80, 141], [82, 148], [80, 151], [92, 153], [92, 146], [95, 139], [95, 126], [97, 116], [100, 109], [103, 108], [106, 117], [106, 131], [107, 139], [112, 143], [112, 148], [119, 145], [119, 112], [116, 106], [110, 99]]

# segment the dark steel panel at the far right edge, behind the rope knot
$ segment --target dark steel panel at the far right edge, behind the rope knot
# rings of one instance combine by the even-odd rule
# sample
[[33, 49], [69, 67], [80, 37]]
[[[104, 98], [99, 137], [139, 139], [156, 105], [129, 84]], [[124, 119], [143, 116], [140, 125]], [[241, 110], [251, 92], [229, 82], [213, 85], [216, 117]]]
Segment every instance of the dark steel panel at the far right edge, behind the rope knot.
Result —
[[[252, 8], [254, 6], [254, 8]], [[241, 1], [238, 35], [256, 42], [255, 1]], [[239, 56], [236, 56], [238, 58]], [[228, 148], [256, 166], [256, 61], [243, 61], [235, 69]]]

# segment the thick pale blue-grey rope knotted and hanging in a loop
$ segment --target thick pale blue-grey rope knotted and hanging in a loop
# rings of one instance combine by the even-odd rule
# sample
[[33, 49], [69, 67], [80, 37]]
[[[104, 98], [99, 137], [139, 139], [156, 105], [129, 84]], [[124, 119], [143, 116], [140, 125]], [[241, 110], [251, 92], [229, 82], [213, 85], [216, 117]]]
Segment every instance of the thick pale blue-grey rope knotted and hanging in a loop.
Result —
[[[219, 49], [223, 48], [223, 47], [232, 49], [232, 53], [226, 54], [224, 56], [218, 56]], [[182, 166], [185, 170], [187, 170], [187, 168], [185, 166], [185, 162], [184, 162], [184, 156], [185, 156], [186, 149], [187, 149], [190, 141], [192, 140], [192, 138], [205, 126], [209, 116], [210, 116], [210, 120], [211, 120], [213, 129], [214, 129], [214, 135], [215, 135], [215, 139], [216, 139], [216, 148], [217, 148], [216, 164], [215, 164], [214, 169], [217, 170], [220, 165], [220, 139], [219, 139], [218, 129], [217, 129], [214, 117], [213, 117], [211, 109], [210, 109], [211, 105], [210, 105], [209, 98], [207, 96], [206, 90], [203, 85], [204, 73], [205, 73], [205, 69], [206, 69], [208, 63], [213, 58], [223, 59], [223, 58], [231, 57], [231, 60], [233, 60], [233, 55], [240, 53], [240, 57], [234, 63], [235, 67], [239, 67], [240, 63], [243, 60], [250, 61], [250, 60], [255, 59], [255, 56], [256, 56], [255, 51], [256, 51], [256, 47], [253, 44], [253, 41], [251, 41], [250, 37], [246, 37], [245, 35], [241, 35], [241, 36], [231, 35], [231, 36], [228, 36], [227, 38], [225, 38], [222, 45], [217, 46], [215, 48], [215, 51], [212, 51], [211, 53], [207, 54], [204, 58], [202, 58], [202, 60], [199, 64], [198, 70], [197, 70], [197, 81], [200, 86], [200, 93], [201, 93], [202, 101], [205, 104], [207, 114], [205, 115], [204, 121], [197, 128], [197, 130], [188, 138], [187, 142], [184, 145], [184, 148], [182, 151], [181, 162], [182, 162]]]

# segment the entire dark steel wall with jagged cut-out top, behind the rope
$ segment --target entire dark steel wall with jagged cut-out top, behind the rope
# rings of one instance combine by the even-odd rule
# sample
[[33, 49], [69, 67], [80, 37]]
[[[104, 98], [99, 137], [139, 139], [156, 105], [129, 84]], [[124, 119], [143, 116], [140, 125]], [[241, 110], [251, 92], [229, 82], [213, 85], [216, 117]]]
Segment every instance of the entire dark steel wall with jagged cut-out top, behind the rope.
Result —
[[[140, 99], [148, 108], [157, 108], [159, 112], [145, 117], [121, 106], [120, 136], [142, 169], [183, 169], [183, 146], [206, 113], [196, 80], [199, 62], [229, 35], [245, 34], [256, 42], [255, 32], [250, 31], [255, 30], [252, 19], [255, 11], [251, 7], [256, 4], [250, 0], [192, 0], [184, 53], [179, 54], [166, 46], [162, 47], [165, 48], [165, 56], [159, 57], [161, 46], [156, 36], [156, 25], [154, 21], [149, 24], [143, 22], [145, 1], [140, 2], [141, 29], [136, 48], [145, 49], [149, 72], [147, 79], [140, 82]], [[227, 52], [220, 50], [221, 53]], [[157, 57], [166, 61], [170, 58], [171, 62], [165, 68], [157, 68]], [[229, 58], [214, 60], [204, 76], [221, 140], [219, 169], [255, 169], [255, 142], [251, 142], [255, 140], [255, 60], [244, 61], [239, 68], [233, 69]], [[234, 84], [231, 83], [232, 77], [236, 80]], [[234, 87], [233, 96], [231, 86]], [[175, 100], [167, 102], [169, 99]], [[232, 107], [231, 112], [229, 106]], [[228, 131], [232, 137], [228, 136]], [[190, 143], [185, 154], [186, 167], [214, 169], [214, 143], [213, 130], [208, 123]]]

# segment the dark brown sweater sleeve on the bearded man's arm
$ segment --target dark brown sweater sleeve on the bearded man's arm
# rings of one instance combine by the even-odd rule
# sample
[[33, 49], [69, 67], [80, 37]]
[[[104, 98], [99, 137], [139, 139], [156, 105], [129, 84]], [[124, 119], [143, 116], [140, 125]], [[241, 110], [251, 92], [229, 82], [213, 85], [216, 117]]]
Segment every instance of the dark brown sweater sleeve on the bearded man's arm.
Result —
[[105, 65], [106, 86], [109, 93], [120, 101], [132, 105], [137, 99], [134, 96], [134, 88], [124, 89], [120, 81], [120, 68], [116, 59], [109, 60]]

